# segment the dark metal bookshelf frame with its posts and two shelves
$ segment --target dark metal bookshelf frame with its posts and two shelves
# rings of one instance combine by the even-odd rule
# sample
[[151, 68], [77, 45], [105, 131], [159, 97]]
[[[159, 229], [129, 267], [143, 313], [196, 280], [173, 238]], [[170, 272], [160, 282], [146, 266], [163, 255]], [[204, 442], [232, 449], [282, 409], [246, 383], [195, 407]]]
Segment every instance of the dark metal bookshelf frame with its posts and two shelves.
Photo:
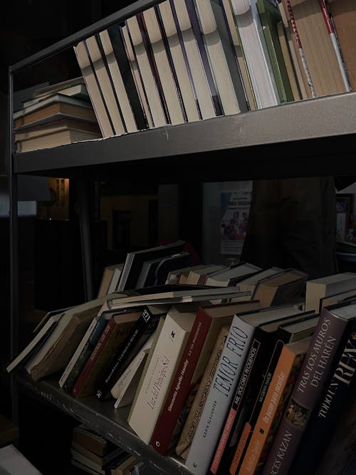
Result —
[[[14, 74], [73, 47], [78, 41], [132, 14], [159, 3], [138, 0], [55, 45], [9, 68], [9, 130], [12, 137]], [[276, 105], [238, 115], [220, 116], [179, 125], [164, 125], [117, 137], [108, 137], [46, 150], [16, 154], [9, 147], [11, 356], [19, 341], [19, 253], [17, 180], [23, 174], [77, 179], [80, 189], [80, 224], [86, 296], [90, 298], [91, 262], [88, 183], [110, 179], [145, 184], [196, 184], [232, 179], [268, 179], [356, 174], [356, 93], [328, 95], [313, 100]], [[147, 178], [149, 177], [149, 178]], [[85, 397], [74, 400], [56, 382], [33, 383], [11, 375], [13, 419], [17, 419], [19, 390], [53, 404], [80, 422], [86, 422], [112, 442], [141, 454], [164, 474], [189, 474], [184, 465], [162, 457], [143, 444], [125, 422], [125, 409], [115, 410]]]

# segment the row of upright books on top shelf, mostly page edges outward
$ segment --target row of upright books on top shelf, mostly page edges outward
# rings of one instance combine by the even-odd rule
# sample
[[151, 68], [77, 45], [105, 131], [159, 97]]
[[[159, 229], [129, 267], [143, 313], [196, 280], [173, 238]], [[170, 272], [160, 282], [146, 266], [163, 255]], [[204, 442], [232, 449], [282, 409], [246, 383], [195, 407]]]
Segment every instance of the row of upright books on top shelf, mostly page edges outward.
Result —
[[356, 86], [351, 0], [165, 0], [75, 46], [103, 137]]

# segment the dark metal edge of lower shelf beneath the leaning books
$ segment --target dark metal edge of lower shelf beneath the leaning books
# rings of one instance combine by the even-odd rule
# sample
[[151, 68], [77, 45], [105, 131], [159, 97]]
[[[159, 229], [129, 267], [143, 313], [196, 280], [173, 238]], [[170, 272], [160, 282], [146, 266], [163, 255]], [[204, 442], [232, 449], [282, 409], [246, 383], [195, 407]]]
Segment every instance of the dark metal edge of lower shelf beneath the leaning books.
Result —
[[16, 376], [19, 389], [33, 397], [61, 409], [83, 424], [92, 427], [105, 439], [122, 447], [130, 454], [142, 457], [147, 464], [162, 475], [191, 475], [184, 464], [172, 456], [161, 456], [132, 432], [127, 424], [130, 407], [114, 409], [112, 401], [101, 402], [95, 397], [81, 397], [75, 400], [58, 386], [57, 380], [33, 382], [30, 377]]

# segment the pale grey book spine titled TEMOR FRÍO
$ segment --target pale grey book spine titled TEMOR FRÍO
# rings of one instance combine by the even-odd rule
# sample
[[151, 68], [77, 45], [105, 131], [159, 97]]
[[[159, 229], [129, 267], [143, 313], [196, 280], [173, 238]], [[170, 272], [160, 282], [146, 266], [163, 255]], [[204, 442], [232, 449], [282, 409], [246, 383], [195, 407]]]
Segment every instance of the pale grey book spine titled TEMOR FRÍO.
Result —
[[234, 315], [219, 365], [209, 390], [201, 418], [186, 461], [192, 474], [205, 475], [219, 439], [226, 412], [252, 343], [254, 328]]

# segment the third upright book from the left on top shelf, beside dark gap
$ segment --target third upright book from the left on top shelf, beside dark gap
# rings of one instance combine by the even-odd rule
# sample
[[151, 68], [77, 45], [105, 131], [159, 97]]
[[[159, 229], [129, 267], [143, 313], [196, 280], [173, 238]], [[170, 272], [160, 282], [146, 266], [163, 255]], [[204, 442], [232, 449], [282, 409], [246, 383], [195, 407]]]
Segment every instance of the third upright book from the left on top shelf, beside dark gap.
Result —
[[[130, 104], [130, 99], [127, 95], [125, 82], [122, 79], [120, 67], [115, 57], [114, 47], [112, 45], [112, 39], [110, 38], [109, 31], [107, 29], [100, 31], [98, 36], [96, 36], [96, 39], [98, 41], [98, 46], [102, 48], [103, 50], [105, 63], [108, 66], [108, 80], [110, 78], [110, 82], [112, 83], [112, 90], [113, 90], [113, 93], [115, 94], [115, 99], [117, 100], [117, 105], [118, 105], [116, 114], [118, 113], [120, 115], [120, 118], [122, 120], [122, 127], [125, 130], [125, 132], [135, 132], [136, 130], [138, 130], [135, 115], [132, 110], [132, 105]], [[96, 52], [98, 56], [98, 50], [96, 50], [96, 48], [94, 49], [93, 52]], [[98, 58], [99, 58], [98, 61], [101, 62], [102, 60], [100, 60], [99, 56]], [[103, 80], [107, 80], [107, 79], [103, 78]], [[108, 88], [109, 88], [109, 84], [108, 84]], [[110, 88], [109, 88], [109, 99], [110, 97], [111, 97], [111, 94], [110, 94]], [[119, 126], [120, 126], [120, 122], [119, 122]]]

